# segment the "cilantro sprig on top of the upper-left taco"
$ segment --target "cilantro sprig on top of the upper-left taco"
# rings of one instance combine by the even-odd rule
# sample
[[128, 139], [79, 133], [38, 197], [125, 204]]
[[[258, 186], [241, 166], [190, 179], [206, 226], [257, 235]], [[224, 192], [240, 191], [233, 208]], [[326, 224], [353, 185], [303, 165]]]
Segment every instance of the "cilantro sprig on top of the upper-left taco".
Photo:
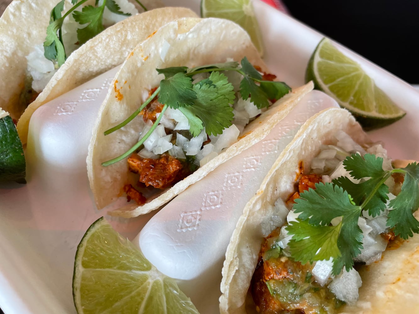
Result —
[[[99, 5], [99, 0], [96, 0], [95, 6], [86, 5], [81, 11], [75, 11], [75, 9], [87, 1], [88, 0], [71, 0], [73, 6], [64, 15], [62, 15], [62, 11], [64, 10], [65, 0], [57, 3], [51, 10], [49, 26], [47, 27], [47, 37], [44, 41], [44, 56], [53, 62], [57, 62], [59, 67], [64, 64], [67, 59], [62, 35], [62, 24], [68, 15], [72, 14], [75, 21], [80, 25], [87, 24], [84, 28], [77, 29], [77, 39], [78, 44], [80, 45], [105, 29], [102, 23], [105, 8], [108, 8], [111, 12], [116, 14], [126, 16], [131, 15], [130, 13], [122, 12], [121, 8], [119, 8], [119, 5], [114, 0], [103, 0], [101, 5]], [[142, 8], [147, 10], [142, 3], [138, 0], [136, 1]]]

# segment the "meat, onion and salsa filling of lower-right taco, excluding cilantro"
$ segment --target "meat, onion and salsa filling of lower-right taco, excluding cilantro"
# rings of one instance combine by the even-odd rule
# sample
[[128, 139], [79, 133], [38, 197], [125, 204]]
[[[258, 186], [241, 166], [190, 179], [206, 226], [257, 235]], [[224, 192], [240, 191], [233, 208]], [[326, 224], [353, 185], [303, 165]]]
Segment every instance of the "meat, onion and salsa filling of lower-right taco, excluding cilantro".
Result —
[[[320, 153], [311, 162], [308, 175], [303, 175], [303, 167], [300, 167], [301, 174], [295, 184], [296, 191], [286, 202], [289, 208], [304, 190], [315, 189], [316, 183], [331, 182], [341, 176], [354, 180], [342, 164], [351, 153], [375, 154], [377, 157], [383, 157], [384, 170], [392, 168], [391, 160], [380, 144], [365, 149], [353, 142], [344, 132], [336, 134], [336, 140], [335, 145], [321, 147]], [[362, 181], [358, 180], [356, 183], [359, 182]], [[398, 184], [395, 184], [394, 178], [389, 178], [385, 184], [394, 193], [388, 195], [391, 200], [397, 193]], [[354, 258], [355, 266], [379, 261], [389, 241], [394, 239], [393, 232], [386, 226], [389, 210], [391, 208], [375, 217], [369, 216], [366, 211], [362, 212], [358, 226], [364, 237], [363, 249]], [[299, 214], [291, 210], [287, 222], [295, 221], [298, 216]], [[331, 314], [343, 304], [354, 304], [362, 284], [357, 271], [354, 268], [349, 272], [343, 269], [339, 275], [333, 276], [333, 259], [302, 265], [290, 256], [288, 242], [291, 238], [292, 235], [288, 235], [285, 226], [282, 226], [266, 237], [261, 247], [250, 288], [256, 311], [263, 314]]]

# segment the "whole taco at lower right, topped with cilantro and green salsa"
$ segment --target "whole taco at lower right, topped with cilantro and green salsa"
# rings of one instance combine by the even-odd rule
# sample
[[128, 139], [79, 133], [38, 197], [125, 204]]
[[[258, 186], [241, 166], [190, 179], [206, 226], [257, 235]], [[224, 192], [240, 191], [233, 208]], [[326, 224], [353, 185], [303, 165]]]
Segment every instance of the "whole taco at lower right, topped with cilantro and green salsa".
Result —
[[416, 311], [418, 181], [416, 162], [393, 170], [349, 112], [313, 116], [244, 208], [220, 313]]

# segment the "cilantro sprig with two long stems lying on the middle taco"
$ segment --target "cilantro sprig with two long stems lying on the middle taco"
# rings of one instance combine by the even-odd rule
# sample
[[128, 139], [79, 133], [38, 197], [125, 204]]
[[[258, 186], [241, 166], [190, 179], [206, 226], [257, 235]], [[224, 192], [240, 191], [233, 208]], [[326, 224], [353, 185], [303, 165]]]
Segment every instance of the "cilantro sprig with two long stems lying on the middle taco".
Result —
[[[194, 68], [168, 67], [156, 69], [164, 75], [155, 92], [125, 121], [104, 132], [111, 134], [132, 121], [138, 114], [158, 95], [159, 103], [163, 104], [163, 110], [167, 108], [179, 109], [188, 119], [189, 132], [192, 136], [198, 136], [205, 128], [208, 135], [222, 134], [222, 130], [232, 125], [234, 119], [233, 104], [235, 92], [233, 85], [228, 82], [228, 77], [222, 71], [235, 71], [243, 75], [240, 84], [240, 95], [243, 100], [250, 100], [258, 108], [267, 108], [268, 100], [279, 99], [289, 93], [291, 88], [284, 82], [271, 82], [262, 80], [262, 75], [253, 67], [246, 57], [238, 62], [225, 62], [209, 64]], [[193, 83], [194, 75], [210, 73], [209, 77]], [[258, 84], [256, 84], [258, 83]], [[160, 114], [159, 118], [163, 113]], [[153, 124], [153, 130], [157, 127], [160, 119]], [[112, 165], [123, 160], [137, 150], [150, 136], [149, 131], [137, 144], [124, 154], [106, 162], [103, 166]]]

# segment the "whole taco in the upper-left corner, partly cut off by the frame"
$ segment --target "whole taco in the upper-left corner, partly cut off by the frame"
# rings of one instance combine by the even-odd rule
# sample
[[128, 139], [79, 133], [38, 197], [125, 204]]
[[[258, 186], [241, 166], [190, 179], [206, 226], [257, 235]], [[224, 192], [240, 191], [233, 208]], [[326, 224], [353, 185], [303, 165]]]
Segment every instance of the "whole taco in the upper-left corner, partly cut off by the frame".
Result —
[[[136, 14], [141, 9], [137, 10], [127, 0], [118, 0], [116, 8], [124, 14], [106, 12], [106, 6], [103, 27], [126, 19], [106, 28], [80, 46], [76, 44], [76, 30], [82, 27], [69, 15], [62, 26], [68, 58], [59, 67], [56, 60], [50, 61], [44, 57], [43, 47], [52, 9], [57, 2], [16, 0], [0, 18], [0, 75], [8, 77], [0, 82], [0, 107], [10, 112], [16, 121], [25, 111], [17, 126], [23, 144], [27, 140], [29, 119], [36, 108], [122, 64], [129, 52], [160, 26], [176, 18], [197, 16], [186, 8], [161, 8]], [[70, 1], [62, 3], [64, 12], [72, 7]], [[83, 3], [84, 8], [88, 4], [94, 5], [94, 2]], [[145, 4], [149, 8], [155, 7], [153, 1], [146, 1]], [[132, 16], [127, 18], [130, 14]], [[77, 50], [71, 53], [74, 49]]]

